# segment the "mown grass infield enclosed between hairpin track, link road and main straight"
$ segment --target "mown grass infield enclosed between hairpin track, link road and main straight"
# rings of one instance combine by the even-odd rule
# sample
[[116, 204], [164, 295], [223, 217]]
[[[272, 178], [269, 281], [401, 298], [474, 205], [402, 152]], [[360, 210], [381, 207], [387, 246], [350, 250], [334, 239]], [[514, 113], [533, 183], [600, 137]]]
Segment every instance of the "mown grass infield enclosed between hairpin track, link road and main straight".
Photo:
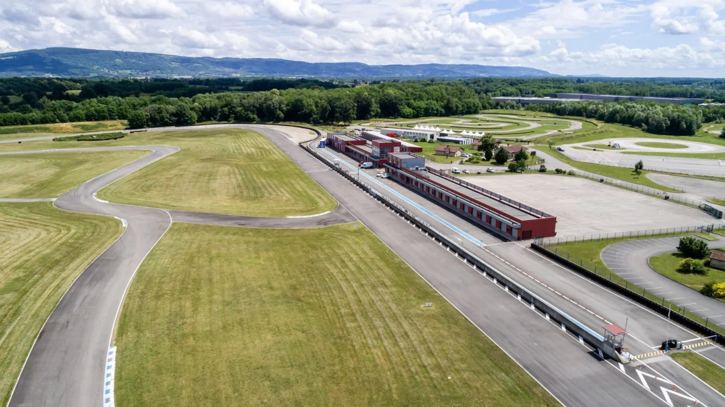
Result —
[[[132, 144], [136, 137], [123, 138]], [[99, 191], [107, 201], [264, 217], [319, 214], [336, 201], [267, 138], [241, 129], [148, 133], [181, 151]], [[77, 142], [80, 144], [82, 142]], [[101, 146], [112, 141], [92, 141]]]

